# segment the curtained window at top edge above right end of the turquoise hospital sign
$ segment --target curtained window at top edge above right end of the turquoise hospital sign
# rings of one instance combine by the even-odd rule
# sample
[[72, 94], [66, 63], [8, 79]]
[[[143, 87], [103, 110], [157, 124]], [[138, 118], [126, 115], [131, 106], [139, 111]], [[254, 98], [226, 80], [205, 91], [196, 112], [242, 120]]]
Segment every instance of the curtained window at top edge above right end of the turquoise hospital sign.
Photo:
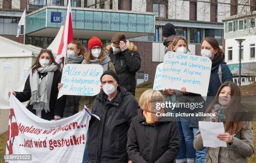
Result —
[[166, 1], [153, 0], [153, 13], [157, 18], [166, 18]]

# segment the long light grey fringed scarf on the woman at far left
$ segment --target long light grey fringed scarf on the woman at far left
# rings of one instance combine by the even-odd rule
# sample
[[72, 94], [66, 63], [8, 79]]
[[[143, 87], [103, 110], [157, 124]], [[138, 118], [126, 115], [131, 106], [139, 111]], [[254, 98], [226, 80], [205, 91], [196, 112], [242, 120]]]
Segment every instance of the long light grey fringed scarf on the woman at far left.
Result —
[[[54, 72], [58, 67], [52, 63], [44, 68], [37, 68], [34, 73], [30, 72], [29, 83], [31, 88], [30, 104], [33, 105], [33, 109], [36, 112], [45, 110], [45, 113], [50, 111], [49, 102], [51, 95], [51, 85], [54, 77]], [[47, 73], [39, 83], [39, 74]]]

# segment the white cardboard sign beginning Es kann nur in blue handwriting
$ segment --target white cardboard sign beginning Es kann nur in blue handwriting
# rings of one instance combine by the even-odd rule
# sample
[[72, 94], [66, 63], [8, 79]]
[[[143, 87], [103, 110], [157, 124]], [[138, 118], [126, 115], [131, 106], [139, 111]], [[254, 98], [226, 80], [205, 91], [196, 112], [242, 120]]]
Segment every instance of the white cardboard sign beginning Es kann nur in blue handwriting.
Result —
[[161, 76], [163, 88], [180, 90], [207, 96], [212, 61], [198, 55], [167, 52]]

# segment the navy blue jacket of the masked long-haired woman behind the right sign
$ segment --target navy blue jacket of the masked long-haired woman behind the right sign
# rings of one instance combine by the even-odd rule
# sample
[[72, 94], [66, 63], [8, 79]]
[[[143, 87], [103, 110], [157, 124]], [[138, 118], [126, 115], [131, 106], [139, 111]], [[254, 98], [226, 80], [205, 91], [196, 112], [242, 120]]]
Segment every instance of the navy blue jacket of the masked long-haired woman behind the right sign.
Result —
[[[221, 64], [221, 65], [220, 65]], [[226, 65], [225, 62], [220, 62], [215, 67], [212, 67], [211, 69], [211, 75], [210, 75], [210, 81], [209, 81], [209, 87], [208, 87], [208, 93], [206, 102], [204, 102], [202, 109], [195, 109], [193, 110], [194, 113], [198, 112], [205, 112], [207, 107], [210, 105], [212, 100], [215, 98], [215, 95], [217, 94], [218, 89], [220, 88], [220, 78], [218, 75], [219, 71], [219, 65], [221, 66], [221, 72], [222, 72], [222, 83], [229, 81], [233, 82], [232, 73], [230, 72], [228, 65]], [[198, 96], [196, 98], [196, 103], [201, 103], [203, 101], [201, 96]], [[198, 121], [202, 120], [202, 117], [193, 117], [190, 121], [189, 127], [190, 128], [198, 128]]]

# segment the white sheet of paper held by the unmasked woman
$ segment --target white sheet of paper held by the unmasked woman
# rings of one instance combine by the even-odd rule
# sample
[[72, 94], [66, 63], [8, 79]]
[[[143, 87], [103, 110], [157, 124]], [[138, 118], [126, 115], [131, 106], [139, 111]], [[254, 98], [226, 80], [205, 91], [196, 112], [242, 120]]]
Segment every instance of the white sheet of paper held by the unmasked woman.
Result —
[[225, 141], [217, 138], [218, 134], [225, 133], [223, 122], [199, 121], [199, 130], [204, 147], [227, 147], [227, 143]]

